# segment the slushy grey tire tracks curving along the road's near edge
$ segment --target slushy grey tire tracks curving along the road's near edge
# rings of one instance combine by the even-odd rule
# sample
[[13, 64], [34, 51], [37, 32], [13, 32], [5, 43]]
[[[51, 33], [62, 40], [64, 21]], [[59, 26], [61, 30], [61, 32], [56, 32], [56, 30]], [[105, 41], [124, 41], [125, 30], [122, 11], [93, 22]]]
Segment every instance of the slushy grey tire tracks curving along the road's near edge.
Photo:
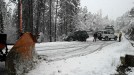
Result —
[[[52, 62], [52, 61], [58, 61], [58, 60], [63, 60], [63, 59], [68, 59], [68, 58], [72, 58], [72, 57], [79, 57], [79, 56], [85, 56], [85, 55], [88, 55], [88, 54], [91, 54], [91, 53], [94, 53], [94, 52], [96, 52], [96, 51], [100, 51], [103, 47], [105, 47], [105, 46], [108, 46], [108, 45], [110, 45], [110, 44], [113, 44], [113, 43], [115, 43], [115, 42], [107, 42], [107, 41], [105, 41], [105, 42], [99, 42], [99, 43], [93, 43], [93, 44], [91, 44], [91, 43], [89, 43], [89, 44], [87, 44], [87, 45], [85, 45], [85, 46], [81, 46], [80, 48], [78, 48], [78, 49], [73, 49], [73, 50], [71, 50], [71, 51], [65, 51], [64, 52], [64, 56], [63, 55], [59, 55], [58, 57], [59, 58], [55, 58], [55, 57], [47, 57], [46, 55], [41, 55], [41, 57], [44, 57], [44, 59], [45, 60], [47, 60], [48, 62]], [[90, 47], [90, 46], [94, 46], [94, 45], [100, 45], [100, 47], [99, 48], [97, 48], [97, 49], [95, 49], [95, 50], [86, 50], [88, 47]], [[75, 46], [75, 47], [77, 47], [77, 46]], [[68, 48], [68, 47], [67, 47]], [[70, 47], [70, 48], [73, 48], [73, 47]], [[64, 49], [64, 48], [63, 48]], [[66, 48], [65, 48], [66, 49]], [[84, 50], [86, 50], [86, 51], [84, 51]], [[78, 54], [75, 54], [75, 52], [80, 52], [80, 53], [78, 53]], [[82, 52], [82, 51], [84, 51], [84, 52]], [[68, 55], [68, 54], [70, 54], [70, 53], [74, 53], [74, 54], [72, 54], [72, 55]], [[61, 57], [60, 57], [61, 56]], [[46, 58], [45, 58], [46, 57]]]

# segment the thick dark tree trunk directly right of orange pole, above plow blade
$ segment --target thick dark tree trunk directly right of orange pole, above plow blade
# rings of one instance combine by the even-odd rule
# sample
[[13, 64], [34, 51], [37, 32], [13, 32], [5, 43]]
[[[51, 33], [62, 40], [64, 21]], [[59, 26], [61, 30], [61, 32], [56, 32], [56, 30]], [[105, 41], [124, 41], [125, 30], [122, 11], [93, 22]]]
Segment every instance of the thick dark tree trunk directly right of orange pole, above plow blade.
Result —
[[33, 0], [23, 0], [24, 32], [33, 33]]

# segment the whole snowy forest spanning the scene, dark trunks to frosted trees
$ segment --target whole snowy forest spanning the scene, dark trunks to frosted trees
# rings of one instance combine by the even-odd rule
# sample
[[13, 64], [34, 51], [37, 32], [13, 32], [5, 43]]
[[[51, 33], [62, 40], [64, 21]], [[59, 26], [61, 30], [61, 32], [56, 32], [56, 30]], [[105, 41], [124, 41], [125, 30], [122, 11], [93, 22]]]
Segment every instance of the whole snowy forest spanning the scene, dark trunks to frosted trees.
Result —
[[[20, 27], [20, 2], [22, 3], [22, 27]], [[11, 4], [15, 6], [11, 8]], [[63, 41], [63, 38], [77, 30], [96, 31], [107, 25], [117, 31], [133, 36], [134, 8], [124, 12], [116, 20], [102, 16], [102, 10], [91, 13], [87, 7], [80, 7], [80, 0], [0, 0], [0, 33], [6, 33], [7, 41], [14, 43], [20, 34], [31, 32], [44, 34], [44, 42]]]

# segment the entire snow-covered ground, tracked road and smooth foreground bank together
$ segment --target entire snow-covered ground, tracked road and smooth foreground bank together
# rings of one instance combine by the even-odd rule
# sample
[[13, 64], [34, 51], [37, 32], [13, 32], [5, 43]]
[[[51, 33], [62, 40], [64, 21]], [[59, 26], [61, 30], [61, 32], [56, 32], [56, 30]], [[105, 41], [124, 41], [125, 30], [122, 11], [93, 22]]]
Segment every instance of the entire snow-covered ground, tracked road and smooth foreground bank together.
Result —
[[[120, 56], [134, 54], [128, 40], [38, 43], [36, 50], [42, 58], [36, 68], [26, 75], [111, 75], [116, 74]], [[10, 46], [11, 48], [11, 46]], [[134, 75], [134, 68], [128, 75]], [[6, 75], [0, 63], [0, 75]]]

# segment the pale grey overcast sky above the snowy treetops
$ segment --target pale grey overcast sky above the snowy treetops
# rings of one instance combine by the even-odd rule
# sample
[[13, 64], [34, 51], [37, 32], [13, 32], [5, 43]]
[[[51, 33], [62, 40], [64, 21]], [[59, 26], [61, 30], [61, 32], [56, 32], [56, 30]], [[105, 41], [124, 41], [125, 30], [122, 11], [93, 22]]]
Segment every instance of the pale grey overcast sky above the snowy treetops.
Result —
[[102, 10], [103, 16], [116, 19], [134, 7], [134, 0], [81, 0], [81, 6], [87, 6], [88, 11], [97, 13]]

